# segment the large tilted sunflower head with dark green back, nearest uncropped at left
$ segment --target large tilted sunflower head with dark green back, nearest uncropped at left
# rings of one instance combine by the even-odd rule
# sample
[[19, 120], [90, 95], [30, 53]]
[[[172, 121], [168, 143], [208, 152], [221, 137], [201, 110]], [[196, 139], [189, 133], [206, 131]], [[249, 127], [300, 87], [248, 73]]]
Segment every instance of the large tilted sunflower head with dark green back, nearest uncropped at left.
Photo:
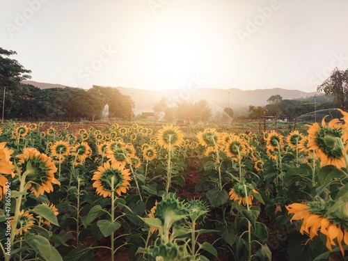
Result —
[[31, 193], [36, 197], [43, 195], [45, 191], [52, 192], [52, 184], [61, 184], [54, 177], [57, 171], [54, 161], [47, 155], [35, 148], [24, 148], [23, 154], [16, 157], [19, 159], [18, 166], [22, 170], [22, 175], [26, 173], [27, 188], [31, 189]]

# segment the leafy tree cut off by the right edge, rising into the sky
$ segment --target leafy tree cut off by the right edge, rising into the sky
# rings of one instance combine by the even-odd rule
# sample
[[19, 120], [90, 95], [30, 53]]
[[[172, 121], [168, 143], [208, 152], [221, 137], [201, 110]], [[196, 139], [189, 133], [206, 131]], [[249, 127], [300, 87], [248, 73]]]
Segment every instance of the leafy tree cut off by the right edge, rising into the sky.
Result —
[[318, 92], [332, 95], [334, 102], [342, 110], [348, 109], [348, 69], [338, 70], [336, 67], [328, 79], [317, 87]]

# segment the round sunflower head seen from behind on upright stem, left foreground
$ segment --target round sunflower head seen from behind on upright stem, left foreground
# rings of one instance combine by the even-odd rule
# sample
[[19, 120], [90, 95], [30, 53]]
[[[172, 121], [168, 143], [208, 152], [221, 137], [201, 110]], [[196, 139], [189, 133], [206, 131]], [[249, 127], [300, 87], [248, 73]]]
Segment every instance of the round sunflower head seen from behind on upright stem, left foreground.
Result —
[[115, 191], [120, 196], [121, 193], [126, 193], [130, 186], [129, 181], [132, 180], [132, 177], [129, 175], [129, 169], [125, 168], [125, 164], [118, 161], [111, 163], [106, 161], [95, 171], [92, 177], [92, 180], [95, 180], [93, 187], [96, 188], [97, 194], [104, 198], [111, 196], [111, 191]]

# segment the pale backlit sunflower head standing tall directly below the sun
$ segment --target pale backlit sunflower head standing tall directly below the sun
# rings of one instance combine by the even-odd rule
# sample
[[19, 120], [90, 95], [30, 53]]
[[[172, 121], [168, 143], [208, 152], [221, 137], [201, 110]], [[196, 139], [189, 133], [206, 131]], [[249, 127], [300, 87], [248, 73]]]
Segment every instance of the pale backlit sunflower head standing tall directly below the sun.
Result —
[[178, 127], [166, 125], [158, 131], [157, 142], [165, 149], [168, 149], [169, 146], [171, 146], [171, 148], [172, 146], [179, 146], [182, 141], [184, 141], [184, 135]]

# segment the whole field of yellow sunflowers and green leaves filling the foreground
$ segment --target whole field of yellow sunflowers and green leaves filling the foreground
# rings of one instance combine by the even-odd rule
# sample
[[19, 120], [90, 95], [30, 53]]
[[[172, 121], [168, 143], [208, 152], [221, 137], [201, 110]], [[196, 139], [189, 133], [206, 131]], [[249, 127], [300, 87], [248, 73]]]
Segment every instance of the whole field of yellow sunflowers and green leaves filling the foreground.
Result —
[[341, 112], [344, 122], [263, 134], [8, 122], [0, 258], [347, 260]]

